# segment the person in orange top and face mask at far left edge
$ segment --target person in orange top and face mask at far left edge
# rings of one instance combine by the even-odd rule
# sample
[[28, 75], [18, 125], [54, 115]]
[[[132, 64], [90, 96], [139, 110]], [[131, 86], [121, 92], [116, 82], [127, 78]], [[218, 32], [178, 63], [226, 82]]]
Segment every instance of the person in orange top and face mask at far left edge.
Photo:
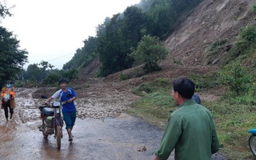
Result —
[[6, 121], [8, 121], [8, 109], [10, 110], [10, 119], [13, 118], [15, 104], [15, 88], [13, 86], [14, 82], [7, 81], [6, 87], [2, 88], [2, 106], [1, 108], [5, 110]]

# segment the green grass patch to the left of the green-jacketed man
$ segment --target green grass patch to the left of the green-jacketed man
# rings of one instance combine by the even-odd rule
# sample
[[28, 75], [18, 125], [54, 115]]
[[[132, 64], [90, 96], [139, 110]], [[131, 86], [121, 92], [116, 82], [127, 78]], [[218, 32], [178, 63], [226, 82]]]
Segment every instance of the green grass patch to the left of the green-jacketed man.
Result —
[[133, 93], [142, 98], [131, 103], [131, 109], [126, 112], [164, 129], [166, 118], [177, 108], [170, 97], [170, 80], [158, 78], [152, 83], [142, 84]]

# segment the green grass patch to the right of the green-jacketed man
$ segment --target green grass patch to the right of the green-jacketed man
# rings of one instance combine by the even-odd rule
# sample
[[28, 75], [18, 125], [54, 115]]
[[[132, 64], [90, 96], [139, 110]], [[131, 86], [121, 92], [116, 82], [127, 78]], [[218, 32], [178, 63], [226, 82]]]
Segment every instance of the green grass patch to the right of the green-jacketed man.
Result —
[[214, 115], [218, 139], [223, 148], [219, 151], [228, 159], [253, 159], [248, 146], [248, 130], [256, 128], [256, 106], [218, 99], [202, 102]]

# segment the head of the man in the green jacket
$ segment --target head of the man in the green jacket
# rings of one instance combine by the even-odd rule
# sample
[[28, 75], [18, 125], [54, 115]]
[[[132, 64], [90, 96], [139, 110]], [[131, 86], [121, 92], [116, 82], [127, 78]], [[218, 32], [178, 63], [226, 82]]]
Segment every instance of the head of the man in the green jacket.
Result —
[[171, 82], [174, 101], [181, 104], [184, 99], [191, 99], [194, 94], [195, 84], [190, 78], [176, 78]]

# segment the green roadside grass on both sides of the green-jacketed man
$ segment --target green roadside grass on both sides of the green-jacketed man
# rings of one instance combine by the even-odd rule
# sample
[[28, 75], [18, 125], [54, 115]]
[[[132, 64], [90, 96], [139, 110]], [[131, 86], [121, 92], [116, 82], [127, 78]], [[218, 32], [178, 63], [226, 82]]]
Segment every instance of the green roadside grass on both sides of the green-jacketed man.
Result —
[[[142, 98], [133, 102], [126, 112], [164, 130], [171, 112], [178, 108], [170, 90], [170, 80], [167, 79], [139, 86], [134, 94]], [[227, 159], [254, 159], [248, 146], [248, 130], [256, 128], [255, 104], [254, 98], [248, 97], [223, 96], [214, 102], [202, 101], [202, 106], [214, 115], [219, 142], [223, 145], [219, 153]]]

